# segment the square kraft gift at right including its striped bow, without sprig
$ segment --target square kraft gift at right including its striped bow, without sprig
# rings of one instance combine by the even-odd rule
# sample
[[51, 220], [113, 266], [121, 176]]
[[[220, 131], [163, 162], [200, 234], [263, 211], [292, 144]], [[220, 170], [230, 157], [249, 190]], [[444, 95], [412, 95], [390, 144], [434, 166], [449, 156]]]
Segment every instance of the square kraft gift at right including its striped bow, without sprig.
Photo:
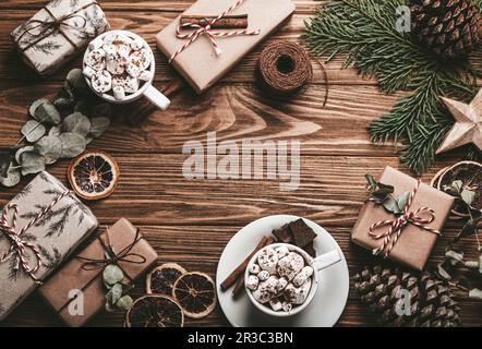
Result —
[[454, 197], [386, 167], [379, 183], [394, 186], [397, 214], [367, 201], [353, 227], [351, 240], [374, 254], [423, 270], [441, 233]]

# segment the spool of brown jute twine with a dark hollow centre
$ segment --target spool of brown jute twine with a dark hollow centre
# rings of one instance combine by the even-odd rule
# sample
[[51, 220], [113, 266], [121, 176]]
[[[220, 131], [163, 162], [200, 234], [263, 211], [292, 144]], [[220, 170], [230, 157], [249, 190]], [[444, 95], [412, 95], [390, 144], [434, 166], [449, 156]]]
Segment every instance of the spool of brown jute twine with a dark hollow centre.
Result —
[[286, 96], [310, 84], [313, 68], [303, 47], [296, 43], [276, 41], [261, 52], [257, 73], [262, 87]]

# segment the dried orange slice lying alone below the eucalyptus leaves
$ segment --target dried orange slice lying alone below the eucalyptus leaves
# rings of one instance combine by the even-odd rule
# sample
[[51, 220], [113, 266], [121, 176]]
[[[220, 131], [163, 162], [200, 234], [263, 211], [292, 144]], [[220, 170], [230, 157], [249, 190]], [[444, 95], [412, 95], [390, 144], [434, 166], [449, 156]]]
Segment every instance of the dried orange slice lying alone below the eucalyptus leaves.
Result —
[[68, 177], [80, 197], [99, 200], [113, 193], [119, 180], [119, 167], [106, 152], [87, 151], [72, 160]]

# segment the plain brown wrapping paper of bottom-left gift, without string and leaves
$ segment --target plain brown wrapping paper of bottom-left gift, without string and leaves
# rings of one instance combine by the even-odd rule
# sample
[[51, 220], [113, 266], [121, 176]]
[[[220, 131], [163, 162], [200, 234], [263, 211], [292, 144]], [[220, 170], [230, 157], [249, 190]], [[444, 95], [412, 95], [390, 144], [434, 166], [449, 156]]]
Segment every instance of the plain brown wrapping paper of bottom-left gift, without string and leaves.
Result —
[[[137, 229], [125, 218], [119, 219], [109, 228], [110, 242], [116, 252], [129, 246], [135, 239]], [[106, 245], [107, 234], [104, 232], [77, 255], [82, 257], [103, 260], [105, 252], [101, 239]], [[143, 255], [146, 261], [142, 264], [119, 262], [119, 267], [124, 272], [125, 282], [136, 279], [147, 270], [157, 260], [157, 253], [145, 240], [141, 239], [131, 250], [132, 253]], [[39, 288], [39, 293], [49, 303], [59, 316], [70, 326], [82, 326], [87, 323], [106, 304], [106, 288], [103, 281], [104, 268], [85, 270], [82, 268], [84, 261], [72, 258], [50, 280]], [[72, 290], [81, 290], [84, 298], [84, 314], [71, 315], [69, 304], [72, 302]]]

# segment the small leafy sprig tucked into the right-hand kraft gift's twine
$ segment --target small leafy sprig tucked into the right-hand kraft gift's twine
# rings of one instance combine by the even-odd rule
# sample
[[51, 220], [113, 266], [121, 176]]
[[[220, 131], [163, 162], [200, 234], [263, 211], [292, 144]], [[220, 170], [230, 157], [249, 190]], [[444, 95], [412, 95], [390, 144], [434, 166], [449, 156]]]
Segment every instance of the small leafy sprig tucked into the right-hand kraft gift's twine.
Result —
[[372, 174], [365, 174], [367, 184], [366, 190], [370, 193], [370, 201], [383, 205], [385, 209], [396, 216], [403, 213], [410, 192], [403, 192], [400, 196], [395, 197], [395, 188], [393, 185], [384, 184], [375, 180]]

